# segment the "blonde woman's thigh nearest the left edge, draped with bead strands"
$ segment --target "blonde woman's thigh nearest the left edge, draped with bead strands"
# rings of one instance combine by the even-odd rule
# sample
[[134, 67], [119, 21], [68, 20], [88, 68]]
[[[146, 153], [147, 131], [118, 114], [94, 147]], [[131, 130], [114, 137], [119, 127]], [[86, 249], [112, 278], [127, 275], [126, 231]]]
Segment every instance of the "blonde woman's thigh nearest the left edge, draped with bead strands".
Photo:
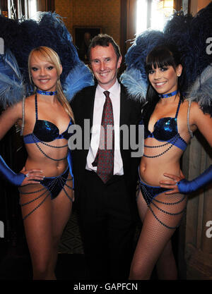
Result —
[[40, 184], [20, 189], [25, 235], [33, 262], [46, 259], [52, 246], [52, 200]]

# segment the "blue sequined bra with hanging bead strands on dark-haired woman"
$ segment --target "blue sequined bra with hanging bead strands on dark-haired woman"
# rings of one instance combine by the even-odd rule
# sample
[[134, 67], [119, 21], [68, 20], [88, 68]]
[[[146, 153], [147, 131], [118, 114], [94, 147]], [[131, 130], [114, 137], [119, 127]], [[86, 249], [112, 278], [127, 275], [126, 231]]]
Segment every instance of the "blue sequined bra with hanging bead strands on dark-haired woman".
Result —
[[165, 117], [165, 118], [158, 119], [158, 121], [156, 121], [154, 125], [153, 133], [151, 133], [151, 131], [148, 130], [147, 128], [144, 129], [145, 139], [148, 137], [153, 137], [160, 142], [166, 142], [165, 144], [158, 145], [158, 146], [144, 145], [145, 147], [159, 148], [165, 145], [169, 145], [169, 147], [164, 152], [158, 155], [147, 156], [146, 154], [143, 154], [144, 157], [151, 157], [151, 158], [159, 157], [160, 155], [163, 155], [165, 152], [167, 152], [173, 145], [178, 147], [179, 149], [182, 149], [183, 151], [187, 148], [187, 142], [185, 142], [185, 140], [182, 139], [182, 137], [179, 135], [178, 128], [177, 128], [177, 116], [179, 113], [180, 104], [181, 104], [181, 100], [179, 99], [175, 118]]

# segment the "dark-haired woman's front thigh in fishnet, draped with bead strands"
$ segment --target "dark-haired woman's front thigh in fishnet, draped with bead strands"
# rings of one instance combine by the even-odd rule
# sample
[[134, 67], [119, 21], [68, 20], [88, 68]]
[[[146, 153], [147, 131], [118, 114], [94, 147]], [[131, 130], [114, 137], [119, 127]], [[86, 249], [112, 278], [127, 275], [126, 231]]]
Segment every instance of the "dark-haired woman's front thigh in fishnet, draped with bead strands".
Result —
[[186, 198], [179, 194], [161, 193], [154, 198], [143, 220], [134, 259], [140, 259], [141, 263], [150, 262], [154, 266], [179, 225], [186, 204]]

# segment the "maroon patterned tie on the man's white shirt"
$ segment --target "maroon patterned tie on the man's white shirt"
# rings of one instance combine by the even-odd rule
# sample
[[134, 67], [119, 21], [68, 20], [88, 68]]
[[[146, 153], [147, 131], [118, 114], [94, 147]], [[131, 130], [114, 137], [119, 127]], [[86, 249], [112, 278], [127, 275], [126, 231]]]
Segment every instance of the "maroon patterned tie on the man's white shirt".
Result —
[[104, 183], [113, 176], [114, 168], [114, 120], [110, 92], [105, 91], [105, 104], [102, 111], [100, 145], [93, 166], [97, 166], [97, 174]]

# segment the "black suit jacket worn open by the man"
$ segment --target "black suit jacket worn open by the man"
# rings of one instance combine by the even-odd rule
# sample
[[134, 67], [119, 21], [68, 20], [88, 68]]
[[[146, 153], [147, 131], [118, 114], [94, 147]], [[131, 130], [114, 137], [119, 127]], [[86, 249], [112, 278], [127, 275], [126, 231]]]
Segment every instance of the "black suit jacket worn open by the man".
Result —
[[[71, 101], [71, 108], [73, 110], [73, 115], [75, 118], [76, 125], [81, 125], [84, 133], [84, 120], [90, 120], [90, 128], [93, 125], [93, 106], [95, 99], [96, 85], [91, 87], [86, 87], [73, 97]], [[141, 121], [141, 104], [135, 102], [133, 99], [129, 98], [126, 92], [126, 87], [121, 84], [121, 94], [120, 94], [120, 126], [121, 125], [139, 125]], [[86, 128], [88, 125], [86, 124]], [[129, 195], [133, 194], [135, 197], [136, 182], [138, 175], [138, 166], [141, 157], [131, 158], [130, 144], [129, 149], [123, 149], [123, 136], [120, 133], [120, 152], [123, 161], [124, 168], [124, 179], [126, 182], [127, 190]], [[91, 138], [91, 135], [90, 135]], [[130, 138], [130, 134], [129, 134]], [[83, 135], [83, 146], [84, 146], [84, 135]], [[75, 149], [71, 151], [73, 159], [73, 175], [74, 175], [74, 186], [75, 186], [75, 197], [76, 200], [80, 195], [81, 183], [83, 180], [83, 175], [86, 168], [86, 158], [88, 155], [88, 149]]]

